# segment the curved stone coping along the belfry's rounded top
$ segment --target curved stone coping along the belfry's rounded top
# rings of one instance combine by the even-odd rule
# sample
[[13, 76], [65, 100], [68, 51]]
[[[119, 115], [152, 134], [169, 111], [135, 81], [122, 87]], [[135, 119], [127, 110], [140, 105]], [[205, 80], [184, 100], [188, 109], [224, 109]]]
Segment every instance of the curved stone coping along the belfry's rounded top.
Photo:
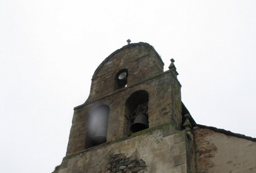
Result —
[[105, 64], [106, 61], [108, 61], [109, 58], [111, 58], [112, 56], [114, 56], [115, 54], [117, 54], [118, 52], [126, 49], [126, 48], [130, 48], [130, 47], [135, 47], [135, 46], [144, 46], [144, 47], [148, 47], [149, 49], [153, 50], [156, 55], [158, 56], [160, 62], [163, 64], [163, 66], [165, 65], [165, 63], [162, 61], [161, 57], [159, 56], [158, 52], [155, 50], [155, 48], [153, 48], [153, 46], [149, 45], [148, 43], [144, 43], [144, 42], [138, 42], [138, 43], [131, 43], [128, 45], [123, 46], [120, 49], [117, 49], [116, 51], [114, 51], [113, 53], [111, 53], [107, 58], [105, 58], [102, 63], [98, 66], [98, 68], [95, 70], [92, 79], [97, 75], [99, 69]]

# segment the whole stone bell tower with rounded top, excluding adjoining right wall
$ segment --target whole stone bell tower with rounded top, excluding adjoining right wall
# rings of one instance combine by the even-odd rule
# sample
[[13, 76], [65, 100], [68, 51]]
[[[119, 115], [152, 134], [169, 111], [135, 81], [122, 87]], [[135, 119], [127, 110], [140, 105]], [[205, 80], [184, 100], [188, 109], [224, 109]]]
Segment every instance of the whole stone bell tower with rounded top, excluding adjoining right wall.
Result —
[[163, 67], [147, 43], [109, 55], [94, 72], [89, 98], [74, 108], [67, 153], [54, 173], [193, 173], [174, 60]]

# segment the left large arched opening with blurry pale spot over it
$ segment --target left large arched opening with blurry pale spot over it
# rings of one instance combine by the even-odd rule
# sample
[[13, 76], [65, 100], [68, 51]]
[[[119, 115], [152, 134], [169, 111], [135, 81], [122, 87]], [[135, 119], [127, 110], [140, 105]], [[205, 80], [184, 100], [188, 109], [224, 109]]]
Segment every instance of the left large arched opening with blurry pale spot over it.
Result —
[[88, 117], [85, 148], [106, 143], [108, 133], [109, 107], [101, 105], [93, 109]]

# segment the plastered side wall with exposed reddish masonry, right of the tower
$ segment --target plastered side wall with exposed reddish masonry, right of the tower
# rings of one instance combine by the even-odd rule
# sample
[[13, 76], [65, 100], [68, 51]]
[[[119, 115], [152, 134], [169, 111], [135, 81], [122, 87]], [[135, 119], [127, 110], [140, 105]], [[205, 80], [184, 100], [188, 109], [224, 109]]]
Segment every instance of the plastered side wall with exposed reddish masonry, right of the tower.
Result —
[[197, 173], [256, 173], [256, 142], [194, 127]]

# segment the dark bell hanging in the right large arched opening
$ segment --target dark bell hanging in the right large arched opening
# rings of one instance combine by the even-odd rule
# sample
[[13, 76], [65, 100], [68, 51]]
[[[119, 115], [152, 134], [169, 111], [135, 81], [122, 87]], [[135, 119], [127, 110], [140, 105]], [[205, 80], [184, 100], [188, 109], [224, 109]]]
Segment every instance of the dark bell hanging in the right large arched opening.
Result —
[[134, 123], [130, 126], [130, 131], [135, 133], [146, 128], [148, 128], [148, 118], [146, 115], [140, 114], [136, 116]]

